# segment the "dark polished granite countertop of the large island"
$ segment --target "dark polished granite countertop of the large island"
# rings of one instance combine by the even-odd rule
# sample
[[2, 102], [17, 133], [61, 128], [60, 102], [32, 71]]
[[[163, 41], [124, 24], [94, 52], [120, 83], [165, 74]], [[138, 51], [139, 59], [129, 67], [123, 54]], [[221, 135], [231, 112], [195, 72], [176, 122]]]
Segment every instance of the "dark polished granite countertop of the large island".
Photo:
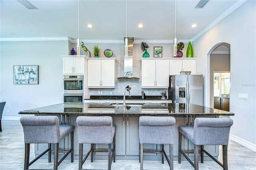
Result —
[[19, 114], [34, 115], [161, 115], [161, 116], [222, 116], [234, 115], [232, 112], [222, 111], [209, 107], [204, 107], [186, 103], [144, 103], [143, 105], [127, 104], [114, 106], [109, 103], [83, 103], [83, 104], [63, 104], [50, 105], [26, 111]]

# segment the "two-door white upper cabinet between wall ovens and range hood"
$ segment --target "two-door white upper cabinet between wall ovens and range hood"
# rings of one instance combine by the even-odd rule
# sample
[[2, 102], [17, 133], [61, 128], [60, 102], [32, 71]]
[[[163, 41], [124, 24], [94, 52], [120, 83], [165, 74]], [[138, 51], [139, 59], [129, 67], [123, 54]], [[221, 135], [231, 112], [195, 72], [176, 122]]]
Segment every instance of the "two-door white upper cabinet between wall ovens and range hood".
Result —
[[88, 58], [88, 88], [115, 88], [116, 58]]

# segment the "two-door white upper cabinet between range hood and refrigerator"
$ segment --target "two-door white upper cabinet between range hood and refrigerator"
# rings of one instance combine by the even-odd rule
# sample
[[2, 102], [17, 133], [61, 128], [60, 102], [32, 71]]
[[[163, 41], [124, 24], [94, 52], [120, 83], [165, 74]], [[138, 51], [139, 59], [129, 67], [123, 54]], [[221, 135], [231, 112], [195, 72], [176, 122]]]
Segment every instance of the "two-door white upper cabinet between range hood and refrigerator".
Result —
[[141, 58], [142, 88], [169, 87], [169, 59]]

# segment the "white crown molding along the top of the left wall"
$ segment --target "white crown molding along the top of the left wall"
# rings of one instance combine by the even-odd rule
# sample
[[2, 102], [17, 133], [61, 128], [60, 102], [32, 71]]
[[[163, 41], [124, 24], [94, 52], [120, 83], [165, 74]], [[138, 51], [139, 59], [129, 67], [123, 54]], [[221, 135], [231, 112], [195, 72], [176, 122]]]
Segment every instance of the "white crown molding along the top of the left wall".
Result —
[[24, 37], [0, 38], [1, 42], [26, 42], [26, 41], [67, 41], [68, 37]]

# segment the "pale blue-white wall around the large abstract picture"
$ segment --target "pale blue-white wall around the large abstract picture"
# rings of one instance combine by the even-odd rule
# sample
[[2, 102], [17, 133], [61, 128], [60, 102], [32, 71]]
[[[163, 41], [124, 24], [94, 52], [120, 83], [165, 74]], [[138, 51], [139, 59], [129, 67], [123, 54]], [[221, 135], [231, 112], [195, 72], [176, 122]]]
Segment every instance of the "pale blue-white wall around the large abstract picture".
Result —
[[[62, 57], [68, 41], [1, 42], [1, 101], [3, 117], [19, 111], [62, 103]], [[14, 85], [13, 65], [38, 65], [38, 85]], [[10, 113], [7, 113], [10, 110]]]

